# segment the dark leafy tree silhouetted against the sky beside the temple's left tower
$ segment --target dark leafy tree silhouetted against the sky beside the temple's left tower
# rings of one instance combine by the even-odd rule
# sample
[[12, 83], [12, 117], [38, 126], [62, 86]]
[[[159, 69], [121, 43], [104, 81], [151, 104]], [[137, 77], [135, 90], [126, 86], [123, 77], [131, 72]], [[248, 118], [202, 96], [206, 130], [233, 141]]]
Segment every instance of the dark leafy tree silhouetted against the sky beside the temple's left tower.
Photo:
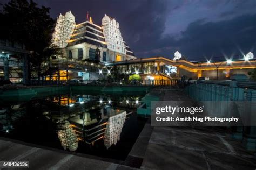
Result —
[[0, 12], [0, 37], [19, 42], [31, 52], [33, 65], [37, 66], [40, 79], [41, 63], [57, 53], [50, 47], [55, 20], [49, 15], [50, 8], [39, 8], [32, 0], [11, 0]]

